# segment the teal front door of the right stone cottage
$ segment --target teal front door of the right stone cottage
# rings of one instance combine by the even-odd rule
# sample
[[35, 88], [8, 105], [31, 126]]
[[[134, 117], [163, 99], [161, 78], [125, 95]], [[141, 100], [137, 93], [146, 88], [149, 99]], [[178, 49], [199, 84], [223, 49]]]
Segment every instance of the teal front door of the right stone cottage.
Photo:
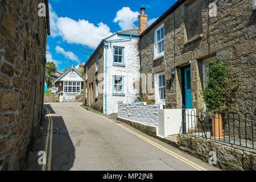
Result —
[[186, 109], [192, 109], [191, 98], [191, 68], [184, 68], [184, 82], [185, 82], [185, 107]]

